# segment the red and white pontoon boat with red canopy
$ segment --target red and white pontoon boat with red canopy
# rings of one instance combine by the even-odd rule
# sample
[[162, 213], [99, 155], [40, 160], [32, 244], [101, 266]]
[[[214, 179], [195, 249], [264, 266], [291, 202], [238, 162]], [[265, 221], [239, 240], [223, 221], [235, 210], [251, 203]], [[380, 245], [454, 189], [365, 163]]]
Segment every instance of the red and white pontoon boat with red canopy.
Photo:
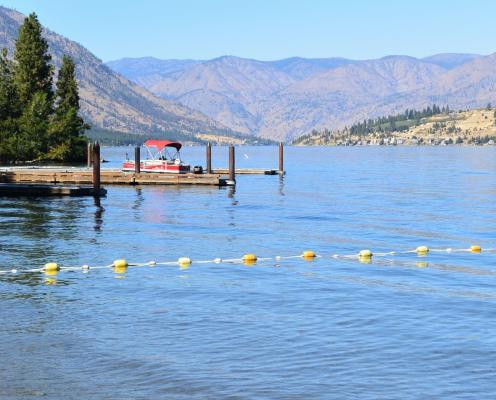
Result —
[[[140, 172], [183, 174], [190, 172], [191, 166], [181, 160], [179, 150], [182, 144], [168, 140], [147, 140], [144, 143], [148, 158], [140, 162]], [[123, 171], [135, 171], [134, 160], [127, 159], [122, 164]]]

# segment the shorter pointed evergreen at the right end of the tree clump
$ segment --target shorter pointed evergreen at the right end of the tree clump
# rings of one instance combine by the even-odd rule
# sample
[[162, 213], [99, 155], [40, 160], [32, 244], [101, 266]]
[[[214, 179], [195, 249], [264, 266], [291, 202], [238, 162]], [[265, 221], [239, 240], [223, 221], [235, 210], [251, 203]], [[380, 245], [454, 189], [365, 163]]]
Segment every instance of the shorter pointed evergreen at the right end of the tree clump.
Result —
[[49, 131], [51, 160], [78, 161], [84, 159], [86, 138], [82, 136], [89, 129], [79, 113], [79, 94], [74, 61], [64, 56], [57, 80], [56, 106]]

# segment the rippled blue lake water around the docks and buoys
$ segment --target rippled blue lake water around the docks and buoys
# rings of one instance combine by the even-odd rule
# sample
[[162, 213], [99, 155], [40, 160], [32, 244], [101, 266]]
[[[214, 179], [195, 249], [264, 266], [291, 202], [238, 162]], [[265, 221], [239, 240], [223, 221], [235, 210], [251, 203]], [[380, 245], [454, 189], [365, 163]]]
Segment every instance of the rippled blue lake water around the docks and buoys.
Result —
[[[132, 148], [105, 148], [117, 166]], [[237, 149], [274, 168], [277, 149]], [[0, 198], [1, 399], [493, 399], [496, 148], [286, 148], [287, 175]], [[183, 158], [202, 164], [204, 149]], [[225, 166], [226, 148], [214, 148]], [[57, 276], [107, 265], [295, 255]]]

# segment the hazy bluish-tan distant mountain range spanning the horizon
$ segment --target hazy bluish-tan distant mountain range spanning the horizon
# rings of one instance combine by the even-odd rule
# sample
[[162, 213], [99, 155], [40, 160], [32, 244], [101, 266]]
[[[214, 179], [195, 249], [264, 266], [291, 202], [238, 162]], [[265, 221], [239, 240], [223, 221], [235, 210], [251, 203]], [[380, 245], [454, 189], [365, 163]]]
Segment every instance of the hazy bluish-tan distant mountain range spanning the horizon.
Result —
[[[437, 54], [258, 61], [127, 59], [109, 63], [154, 94], [246, 134], [289, 141], [313, 129], [436, 102], [452, 108], [496, 103], [495, 55]], [[159, 60], [160, 61], [160, 60]], [[133, 65], [132, 75], [127, 72]], [[138, 63], [138, 64], [136, 64]]]

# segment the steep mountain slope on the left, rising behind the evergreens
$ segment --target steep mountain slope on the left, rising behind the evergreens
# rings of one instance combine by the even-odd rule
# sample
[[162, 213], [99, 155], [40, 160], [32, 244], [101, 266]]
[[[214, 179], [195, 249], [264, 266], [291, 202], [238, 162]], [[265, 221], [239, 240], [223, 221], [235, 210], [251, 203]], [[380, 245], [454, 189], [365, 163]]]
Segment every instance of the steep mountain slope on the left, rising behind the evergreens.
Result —
[[[24, 15], [0, 6], [0, 48], [12, 56]], [[56, 67], [63, 54], [70, 55], [77, 68], [81, 112], [93, 126], [134, 133], [170, 132], [194, 137], [198, 133], [233, 134], [231, 129], [199, 111], [156, 97], [102, 63], [80, 44], [48, 29], [44, 36]], [[183, 62], [183, 68], [185, 66]], [[164, 69], [164, 64], [161, 64]]]

